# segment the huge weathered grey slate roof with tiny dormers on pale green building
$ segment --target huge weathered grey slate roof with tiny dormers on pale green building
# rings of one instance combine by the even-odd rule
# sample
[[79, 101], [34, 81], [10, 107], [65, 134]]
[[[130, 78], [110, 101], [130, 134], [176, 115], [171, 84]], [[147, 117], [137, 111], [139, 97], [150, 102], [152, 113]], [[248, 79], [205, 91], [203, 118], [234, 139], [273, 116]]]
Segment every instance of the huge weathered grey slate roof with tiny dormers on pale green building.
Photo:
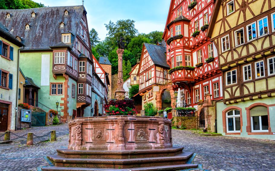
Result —
[[[69, 11], [68, 16], [64, 16], [65, 10]], [[32, 11], [36, 17], [31, 17]], [[6, 19], [7, 12], [12, 14], [10, 19]], [[26, 40], [25, 50], [42, 50], [57, 45], [61, 40], [61, 33], [72, 33], [73, 42], [83, 12], [86, 10], [82, 5], [0, 10], [0, 22], [11, 34]], [[59, 27], [60, 22], [65, 23], [64, 28]], [[30, 25], [30, 30], [25, 30], [26, 23]], [[70, 46], [73, 46], [73, 43]]]

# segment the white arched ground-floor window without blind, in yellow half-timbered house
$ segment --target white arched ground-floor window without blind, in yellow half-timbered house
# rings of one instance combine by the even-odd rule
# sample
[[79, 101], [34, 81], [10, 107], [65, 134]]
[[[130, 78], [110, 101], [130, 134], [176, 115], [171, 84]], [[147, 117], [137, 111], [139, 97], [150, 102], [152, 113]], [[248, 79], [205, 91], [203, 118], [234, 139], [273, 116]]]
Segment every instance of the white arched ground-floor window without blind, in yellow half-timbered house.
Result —
[[241, 132], [241, 117], [239, 110], [230, 110], [226, 113], [227, 132]]

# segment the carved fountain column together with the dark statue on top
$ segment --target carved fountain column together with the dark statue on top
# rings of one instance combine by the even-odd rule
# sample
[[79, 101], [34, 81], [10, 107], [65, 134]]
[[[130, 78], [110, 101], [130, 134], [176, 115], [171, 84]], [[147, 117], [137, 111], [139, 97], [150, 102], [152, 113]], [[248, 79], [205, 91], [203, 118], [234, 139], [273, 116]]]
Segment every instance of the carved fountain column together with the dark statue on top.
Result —
[[122, 75], [122, 56], [124, 53], [125, 42], [123, 42], [124, 38], [120, 37], [118, 42], [118, 50], [116, 53], [118, 54], [118, 87], [115, 90], [115, 98], [118, 100], [123, 100], [125, 98], [125, 90], [123, 89], [123, 75]]

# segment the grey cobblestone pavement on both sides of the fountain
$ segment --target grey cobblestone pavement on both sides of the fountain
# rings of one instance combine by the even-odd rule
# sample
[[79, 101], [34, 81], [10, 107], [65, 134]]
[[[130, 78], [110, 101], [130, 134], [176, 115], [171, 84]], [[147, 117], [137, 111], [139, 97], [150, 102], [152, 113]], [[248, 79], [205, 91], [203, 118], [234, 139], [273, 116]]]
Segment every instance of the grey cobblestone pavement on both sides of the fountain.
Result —
[[[64, 126], [62, 129], [60, 127], [58, 131], [67, 131]], [[42, 142], [33, 146], [2, 144], [0, 170], [40, 170], [41, 166], [49, 166], [46, 156], [55, 154], [57, 148], [66, 148], [68, 138], [69, 135], [62, 135], [56, 142]], [[184, 151], [196, 154], [193, 162], [200, 165], [193, 170], [275, 170], [274, 141], [201, 136], [188, 130], [173, 129], [173, 144], [183, 145]]]

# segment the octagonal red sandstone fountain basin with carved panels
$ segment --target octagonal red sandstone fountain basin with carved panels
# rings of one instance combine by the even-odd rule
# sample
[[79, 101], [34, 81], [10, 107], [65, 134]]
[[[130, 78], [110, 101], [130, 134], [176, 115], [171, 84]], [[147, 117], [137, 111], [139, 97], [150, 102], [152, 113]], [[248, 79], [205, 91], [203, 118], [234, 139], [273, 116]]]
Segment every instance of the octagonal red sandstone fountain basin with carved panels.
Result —
[[172, 147], [171, 120], [163, 117], [102, 116], [70, 121], [71, 150], [143, 150]]

